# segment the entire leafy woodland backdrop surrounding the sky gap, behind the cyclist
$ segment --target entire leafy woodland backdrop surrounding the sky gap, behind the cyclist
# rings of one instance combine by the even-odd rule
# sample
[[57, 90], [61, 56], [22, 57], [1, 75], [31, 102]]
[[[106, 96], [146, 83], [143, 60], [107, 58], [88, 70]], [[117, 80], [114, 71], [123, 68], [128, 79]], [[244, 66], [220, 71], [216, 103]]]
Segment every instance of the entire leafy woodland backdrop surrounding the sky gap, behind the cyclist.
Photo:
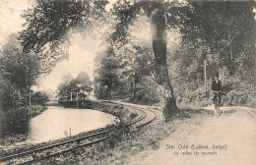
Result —
[[[156, 80], [153, 8], [163, 11], [166, 66], [178, 107], [212, 104], [216, 73], [223, 82], [223, 105], [256, 106], [255, 1], [117, 1], [109, 11], [108, 1], [85, 2], [37, 0], [25, 12], [27, 29], [10, 36], [0, 52], [1, 111], [44, 104], [47, 96], [35, 94], [32, 85], [67, 58], [70, 34], [85, 31], [105, 45], [96, 57], [96, 98], [162, 105], [168, 93]], [[98, 32], [102, 22], [108, 27]], [[140, 36], [145, 29], [152, 37]]]

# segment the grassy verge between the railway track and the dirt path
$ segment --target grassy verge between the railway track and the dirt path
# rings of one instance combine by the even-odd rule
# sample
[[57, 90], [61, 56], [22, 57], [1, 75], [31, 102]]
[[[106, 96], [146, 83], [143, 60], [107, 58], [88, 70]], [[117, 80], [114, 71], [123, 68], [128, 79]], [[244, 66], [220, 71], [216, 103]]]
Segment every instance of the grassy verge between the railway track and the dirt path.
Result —
[[[140, 105], [141, 107], [141, 105]], [[155, 107], [145, 106], [148, 109]], [[212, 116], [211, 111], [180, 109], [171, 122], [164, 123], [161, 111], [157, 110], [158, 120], [138, 132], [126, 132], [122, 136], [113, 136], [92, 147], [79, 148], [59, 157], [44, 160], [43, 164], [131, 164], [133, 156], [141, 152], [154, 152], [160, 142], [174, 136], [179, 138], [185, 128]], [[142, 155], [142, 159], [147, 154]], [[140, 156], [139, 156], [140, 157]], [[140, 164], [140, 160], [136, 161]]]

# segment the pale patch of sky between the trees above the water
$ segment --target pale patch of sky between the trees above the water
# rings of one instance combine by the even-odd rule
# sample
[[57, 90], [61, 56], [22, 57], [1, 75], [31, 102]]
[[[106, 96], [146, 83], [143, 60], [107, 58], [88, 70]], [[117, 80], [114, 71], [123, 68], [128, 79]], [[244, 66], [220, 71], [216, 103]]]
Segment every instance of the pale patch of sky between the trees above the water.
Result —
[[71, 42], [68, 60], [59, 62], [49, 75], [40, 78], [40, 90], [55, 90], [63, 75], [68, 73], [76, 78], [81, 71], [85, 71], [93, 81], [96, 52], [103, 49], [101, 41], [90, 37], [84, 40], [80, 34], [74, 34]]

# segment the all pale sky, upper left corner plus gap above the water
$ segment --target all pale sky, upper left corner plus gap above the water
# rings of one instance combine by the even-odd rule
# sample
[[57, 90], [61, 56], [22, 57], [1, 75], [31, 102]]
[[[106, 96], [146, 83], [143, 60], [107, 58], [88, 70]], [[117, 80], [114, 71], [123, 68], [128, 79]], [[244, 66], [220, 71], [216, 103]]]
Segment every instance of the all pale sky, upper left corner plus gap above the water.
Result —
[[[25, 19], [21, 14], [32, 4], [32, 0], [0, 0], [0, 49], [10, 34], [24, 28]], [[96, 52], [102, 50], [100, 40], [92, 37], [83, 39], [81, 35], [74, 34], [71, 41], [69, 59], [59, 62], [49, 75], [41, 76], [33, 89], [54, 91], [63, 75], [70, 73], [76, 78], [81, 71], [85, 71], [93, 80]]]

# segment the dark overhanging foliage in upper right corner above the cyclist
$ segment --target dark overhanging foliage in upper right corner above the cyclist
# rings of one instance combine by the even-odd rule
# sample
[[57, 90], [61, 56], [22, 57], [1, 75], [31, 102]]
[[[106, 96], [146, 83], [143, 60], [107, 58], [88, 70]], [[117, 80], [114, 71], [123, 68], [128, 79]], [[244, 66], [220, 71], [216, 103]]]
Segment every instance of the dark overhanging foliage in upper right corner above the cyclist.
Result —
[[[210, 47], [208, 54], [218, 54], [218, 68], [227, 67], [229, 76], [238, 68], [237, 59], [246, 52], [255, 59], [255, 1], [189, 1], [179, 16], [183, 38], [195, 47], [200, 42]], [[199, 40], [200, 39], [200, 40]], [[214, 58], [214, 57], [213, 57]], [[252, 68], [255, 64], [250, 63]]]

